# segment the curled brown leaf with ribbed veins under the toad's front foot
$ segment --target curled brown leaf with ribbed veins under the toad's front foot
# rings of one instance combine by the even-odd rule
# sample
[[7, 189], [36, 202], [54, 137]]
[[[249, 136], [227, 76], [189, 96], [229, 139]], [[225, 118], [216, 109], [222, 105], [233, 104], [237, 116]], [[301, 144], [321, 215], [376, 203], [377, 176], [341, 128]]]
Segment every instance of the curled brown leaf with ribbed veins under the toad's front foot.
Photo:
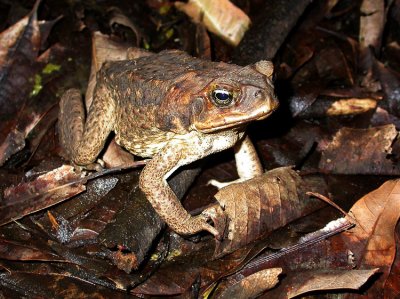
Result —
[[[217, 244], [215, 255], [241, 248], [318, 208], [321, 203], [306, 195], [312, 189], [322, 188], [320, 184], [308, 185], [290, 167], [222, 188], [215, 198], [228, 218], [228, 231]], [[218, 222], [215, 226], [223, 231]]]

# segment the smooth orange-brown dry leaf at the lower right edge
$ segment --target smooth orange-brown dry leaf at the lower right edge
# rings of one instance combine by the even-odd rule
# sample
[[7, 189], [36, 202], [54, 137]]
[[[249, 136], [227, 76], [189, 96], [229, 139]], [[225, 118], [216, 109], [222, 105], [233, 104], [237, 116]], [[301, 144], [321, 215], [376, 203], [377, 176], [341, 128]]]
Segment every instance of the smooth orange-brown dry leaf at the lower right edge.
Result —
[[379, 268], [366, 298], [385, 289], [396, 255], [395, 227], [400, 218], [400, 180], [391, 180], [362, 197], [350, 210], [356, 226], [338, 236], [347, 243], [359, 269]]

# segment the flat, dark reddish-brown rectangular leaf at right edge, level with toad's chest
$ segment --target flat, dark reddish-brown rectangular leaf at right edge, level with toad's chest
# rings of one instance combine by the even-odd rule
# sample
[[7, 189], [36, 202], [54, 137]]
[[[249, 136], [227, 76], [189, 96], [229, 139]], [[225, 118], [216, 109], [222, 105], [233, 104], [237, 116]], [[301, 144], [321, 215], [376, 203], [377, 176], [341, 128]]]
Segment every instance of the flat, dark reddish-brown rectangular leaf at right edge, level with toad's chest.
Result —
[[330, 143], [319, 145], [319, 168], [338, 174], [399, 174], [400, 165], [388, 158], [397, 135], [394, 125], [342, 128]]

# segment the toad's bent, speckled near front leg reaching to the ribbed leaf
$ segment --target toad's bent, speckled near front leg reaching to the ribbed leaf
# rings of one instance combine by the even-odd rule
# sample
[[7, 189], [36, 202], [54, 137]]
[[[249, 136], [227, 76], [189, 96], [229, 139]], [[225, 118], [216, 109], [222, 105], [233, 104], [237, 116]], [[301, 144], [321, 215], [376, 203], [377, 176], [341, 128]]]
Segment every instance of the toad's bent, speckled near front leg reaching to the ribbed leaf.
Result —
[[157, 153], [140, 174], [140, 189], [157, 214], [178, 234], [192, 235], [206, 230], [219, 238], [218, 231], [207, 223], [208, 217], [191, 216], [167, 183], [167, 178], [180, 166], [181, 152], [176, 146], [166, 145]]

